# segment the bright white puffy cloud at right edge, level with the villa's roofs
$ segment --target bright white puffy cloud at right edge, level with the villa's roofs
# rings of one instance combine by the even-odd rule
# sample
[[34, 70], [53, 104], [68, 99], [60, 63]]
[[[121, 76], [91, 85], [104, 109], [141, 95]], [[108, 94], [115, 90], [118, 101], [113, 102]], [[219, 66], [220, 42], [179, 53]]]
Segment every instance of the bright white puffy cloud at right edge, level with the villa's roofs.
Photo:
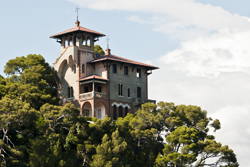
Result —
[[189, 76], [217, 77], [221, 72], [250, 72], [250, 31], [216, 33], [181, 43], [160, 58]]

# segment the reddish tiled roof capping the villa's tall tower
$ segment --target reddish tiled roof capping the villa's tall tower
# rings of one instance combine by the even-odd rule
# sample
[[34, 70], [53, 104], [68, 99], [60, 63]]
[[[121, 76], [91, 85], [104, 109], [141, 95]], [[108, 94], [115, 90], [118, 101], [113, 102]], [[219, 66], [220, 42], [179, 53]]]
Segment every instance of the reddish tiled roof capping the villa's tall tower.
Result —
[[50, 38], [58, 38], [64, 34], [68, 34], [68, 33], [72, 33], [72, 32], [76, 32], [76, 31], [82, 31], [82, 32], [89, 32], [91, 34], [94, 34], [95, 36], [105, 36], [105, 34], [102, 34], [102, 33], [99, 33], [97, 31], [94, 31], [94, 30], [90, 30], [88, 28], [85, 28], [85, 27], [82, 27], [82, 26], [75, 26], [74, 28], [71, 28], [71, 29], [68, 29], [66, 31], [63, 31], [63, 32], [60, 32], [60, 33], [57, 33], [55, 35], [51, 35]]

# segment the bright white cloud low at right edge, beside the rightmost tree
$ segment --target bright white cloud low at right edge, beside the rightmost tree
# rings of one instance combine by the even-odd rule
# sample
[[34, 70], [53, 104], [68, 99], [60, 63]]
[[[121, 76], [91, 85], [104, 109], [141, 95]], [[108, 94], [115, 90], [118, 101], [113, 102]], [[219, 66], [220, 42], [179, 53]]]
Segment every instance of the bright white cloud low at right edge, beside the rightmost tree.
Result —
[[222, 129], [216, 134], [217, 140], [223, 141], [223, 144], [229, 145], [234, 150], [240, 165], [244, 164], [242, 166], [250, 165], [248, 161], [250, 150], [247, 147], [250, 145], [249, 110], [249, 105], [228, 105], [212, 115], [219, 117], [222, 124]]

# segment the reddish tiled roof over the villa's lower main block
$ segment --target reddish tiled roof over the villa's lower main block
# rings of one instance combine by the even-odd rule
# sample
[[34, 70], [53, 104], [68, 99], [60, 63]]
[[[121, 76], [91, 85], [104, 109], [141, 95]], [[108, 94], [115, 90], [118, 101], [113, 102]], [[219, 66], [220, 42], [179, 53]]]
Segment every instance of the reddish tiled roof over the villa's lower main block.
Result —
[[104, 56], [100, 56], [88, 63], [95, 63], [95, 62], [100, 62], [100, 61], [105, 61], [105, 60], [113, 60], [113, 61], [118, 61], [118, 62], [123, 62], [123, 63], [128, 63], [128, 64], [134, 64], [134, 65], [138, 65], [138, 66], [144, 66], [144, 67], [147, 67], [151, 70], [153, 69], [158, 69], [159, 67], [156, 67], [156, 66], [152, 66], [152, 65], [149, 65], [149, 64], [145, 64], [145, 63], [140, 63], [140, 62], [137, 62], [137, 61], [134, 61], [134, 60], [129, 60], [129, 59], [125, 59], [123, 57], [119, 57], [119, 56], [115, 56], [115, 55], [104, 55]]

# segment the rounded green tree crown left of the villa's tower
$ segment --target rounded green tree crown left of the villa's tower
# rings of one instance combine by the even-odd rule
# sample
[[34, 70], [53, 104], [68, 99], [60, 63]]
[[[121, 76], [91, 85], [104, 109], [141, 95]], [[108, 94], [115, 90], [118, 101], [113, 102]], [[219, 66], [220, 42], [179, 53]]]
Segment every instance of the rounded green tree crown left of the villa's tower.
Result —
[[58, 104], [55, 71], [41, 55], [11, 59], [4, 72], [8, 77], [0, 78], [0, 98], [19, 98], [37, 110], [44, 103]]

